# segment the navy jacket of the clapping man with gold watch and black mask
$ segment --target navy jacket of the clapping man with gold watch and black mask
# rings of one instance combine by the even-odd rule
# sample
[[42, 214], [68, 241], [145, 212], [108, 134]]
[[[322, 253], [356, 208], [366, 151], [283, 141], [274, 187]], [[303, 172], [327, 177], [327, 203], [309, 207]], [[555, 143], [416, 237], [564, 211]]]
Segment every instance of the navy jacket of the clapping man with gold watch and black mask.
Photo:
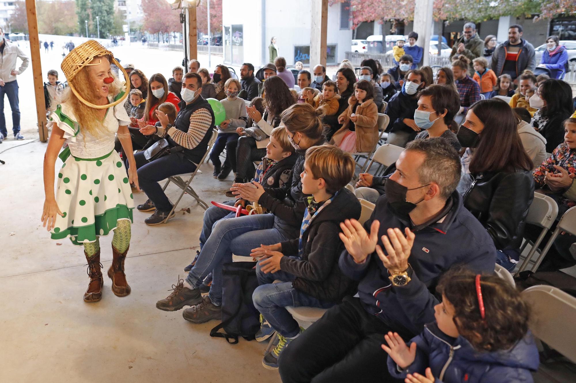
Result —
[[[433, 292], [438, 278], [453, 265], [466, 265], [476, 273], [492, 273], [496, 263], [496, 248], [482, 224], [462, 205], [458, 191], [451, 196], [452, 207], [442, 222], [416, 230], [414, 246], [408, 262], [412, 280], [406, 286], [394, 287], [388, 279], [376, 252], [358, 265], [346, 250], [340, 256], [340, 269], [348, 277], [359, 281], [358, 293], [363, 307], [390, 325], [400, 334], [414, 336], [424, 325], [434, 321], [434, 305], [438, 299]], [[447, 205], [448, 206], [448, 205]], [[400, 219], [388, 209], [388, 200], [378, 198], [372, 217], [364, 228], [370, 231], [373, 220], [380, 221], [378, 244], [389, 228], [411, 227], [409, 219]]]

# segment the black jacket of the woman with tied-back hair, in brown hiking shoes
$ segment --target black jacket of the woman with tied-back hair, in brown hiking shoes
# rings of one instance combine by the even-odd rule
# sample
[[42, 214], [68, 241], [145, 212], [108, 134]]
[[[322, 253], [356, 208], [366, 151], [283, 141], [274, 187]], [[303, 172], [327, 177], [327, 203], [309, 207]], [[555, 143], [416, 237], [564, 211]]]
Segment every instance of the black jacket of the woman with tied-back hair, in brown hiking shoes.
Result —
[[[313, 146], [324, 145], [326, 140], [320, 139]], [[308, 194], [302, 194], [302, 180], [300, 174], [304, 171], [304, 156], [306, 150], [297, 150], [296, 162], [292, 168], [292, 182], [288, 188], [266, 188], [264, 194], [260, 196], [258, 203], [274, 214], [274, 227], [282, 229], [288, 233], [290, 238], [300, 236], [300, 226], [304, 217], [304, 198]], [[293, 154], [294, 155], [294, 154]]]

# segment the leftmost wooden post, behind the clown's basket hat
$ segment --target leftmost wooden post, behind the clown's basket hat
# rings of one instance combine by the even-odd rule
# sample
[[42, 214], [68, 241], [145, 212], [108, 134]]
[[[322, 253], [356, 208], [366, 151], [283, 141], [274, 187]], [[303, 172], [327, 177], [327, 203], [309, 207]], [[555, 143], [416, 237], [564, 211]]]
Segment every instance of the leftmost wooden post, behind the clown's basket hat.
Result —
[[30, 35], [30, 55], [32, 74], [34, 76], [34, 94], [36, 97], [36, 117], [38, 118], [38, 133], [40, 141], [48, 140], [46, 127], [46, 104], [44, 104], [44, 82], [40, 64], [40, 41], [38, 40], [38, 22], [36, 19], [36, 0], [26, 0], [26, 16], [28, 16], [28, 33]]

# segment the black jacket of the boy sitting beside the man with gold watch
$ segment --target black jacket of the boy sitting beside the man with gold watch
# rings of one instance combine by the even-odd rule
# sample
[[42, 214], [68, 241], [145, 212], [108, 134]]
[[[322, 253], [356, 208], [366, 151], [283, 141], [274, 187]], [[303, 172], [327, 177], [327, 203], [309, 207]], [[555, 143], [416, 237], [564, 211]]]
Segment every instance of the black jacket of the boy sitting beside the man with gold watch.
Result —
[[[306, 205], [308, 201], [306, 199]], [[350, 190], [338, 191], [334, 200], [313, 217], [302, 233], [302, 259], [283, 256], [280, 268], [296, 276], [292, 285], [321, 301], [339, 303], [353, 295], [358, 284], [346, 277], [338, 266], [344, 244], [338, 239], [340, 222], [360, 217], [362, 208]], [[304, 217], [304, 216], [302, 216]], [[300, 240], [282, 242], [282, 254], [297, 255]]]

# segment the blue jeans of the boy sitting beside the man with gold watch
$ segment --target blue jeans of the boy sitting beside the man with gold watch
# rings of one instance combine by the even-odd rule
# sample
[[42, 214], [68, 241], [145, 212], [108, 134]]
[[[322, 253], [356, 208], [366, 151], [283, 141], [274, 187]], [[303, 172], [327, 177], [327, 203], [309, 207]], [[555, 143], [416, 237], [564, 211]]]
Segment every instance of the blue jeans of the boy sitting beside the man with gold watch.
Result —
[[[260, 286], [254, 290], [252, 301], [254, 306], [274, 330], [285, 338], [293, 338], [300, 333], [300, 325], [286, 310], [286, 306], [293, 307], [321, 307], [330, 308], [333, 303], [323, 302], [317, 298], [302, 293], [292, 287], [295, 275], [286, 271], [264, 274], [260, 262], [256, 264], [256, 277]], [[284, 282], [272, 283], [276, 279]]]

